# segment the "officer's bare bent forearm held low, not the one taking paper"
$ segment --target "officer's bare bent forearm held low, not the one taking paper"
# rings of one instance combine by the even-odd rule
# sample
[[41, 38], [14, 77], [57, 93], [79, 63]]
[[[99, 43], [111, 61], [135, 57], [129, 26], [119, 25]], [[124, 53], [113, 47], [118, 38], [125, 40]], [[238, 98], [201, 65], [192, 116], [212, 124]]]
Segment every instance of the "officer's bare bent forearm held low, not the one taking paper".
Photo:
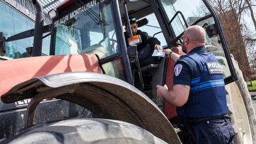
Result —
[[158, 97], [164, 98], [169, 104], [176, 107], [181, 107], [187, 103], [190, 86], [188, 85], [174, 85], [171, 91], [167, 87], [156, 86]]

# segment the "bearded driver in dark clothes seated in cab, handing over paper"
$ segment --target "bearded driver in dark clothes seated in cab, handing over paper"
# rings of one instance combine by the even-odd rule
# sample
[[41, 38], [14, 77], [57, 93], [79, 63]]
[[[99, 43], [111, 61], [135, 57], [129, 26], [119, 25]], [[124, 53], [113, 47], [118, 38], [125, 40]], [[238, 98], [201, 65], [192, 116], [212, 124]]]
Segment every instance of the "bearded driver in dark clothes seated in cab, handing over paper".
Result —
[[[161, 44], [160, 41], [158, 39], [156, 39], [155, 37], [149, 36], [148, 33], [144, 32], [144, 31], [137, 30], [138, 25], [137, 25], [136, 18], [131, 17], [129, 19], [129, 21], [130, 21], [130, 26], [132, 29], [133, 36], [140, 35], [140, 37], [142, 38], [142, 43], [137, 45], [137, 56], [139, 58], [140, 67], [147, 66], [152, 63], [156, 63], [158, 61], [158, 57], [153, 57], [152, 53], [153, 53], [154, 49], [156, 49], [156, 50], [163, 49], [162, 46], [160, 45]], [[124, 24], [125, 24], [124, 37], [126, 39], [126, 46], [128, 47], [129, 43], [128, 43], [127, 39], [129, 38], [129, 36], [127, 33], [127, 31], [128, 31], [127, 22], [125, 21]], [[133, 68], [134, 67], [132, 66], [132, 69]]]

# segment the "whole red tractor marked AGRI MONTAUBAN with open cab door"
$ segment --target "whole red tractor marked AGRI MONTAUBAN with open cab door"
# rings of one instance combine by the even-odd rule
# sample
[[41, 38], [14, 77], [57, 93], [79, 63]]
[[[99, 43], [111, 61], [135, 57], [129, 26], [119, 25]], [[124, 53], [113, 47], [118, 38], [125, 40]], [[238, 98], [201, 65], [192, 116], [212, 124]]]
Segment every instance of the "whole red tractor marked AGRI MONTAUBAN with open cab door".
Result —
[[[181, 143], [175, 107], [156, 96], [156, 85], [172, 89], [175, 63], [158, 57], [141, 68], [136, 43], [126, 46], [124, 38], [129, 17], [164, 49], [182, 43], [189, 25], [201, 25], [224, 71], [235, 142], [256, 142], [247, 85], [206, 0], [66, 0], [49, 11], [49, 25], [32, 2], [35, 28], [10, 37], [0, 30], [1, 56], [9, 41], [34, 37], [29, 57], [0, 61], [0, 143]], [[128, 33], [136, 39], [129, 24]], [[50, 55], [42, 56], [46, 36]]]

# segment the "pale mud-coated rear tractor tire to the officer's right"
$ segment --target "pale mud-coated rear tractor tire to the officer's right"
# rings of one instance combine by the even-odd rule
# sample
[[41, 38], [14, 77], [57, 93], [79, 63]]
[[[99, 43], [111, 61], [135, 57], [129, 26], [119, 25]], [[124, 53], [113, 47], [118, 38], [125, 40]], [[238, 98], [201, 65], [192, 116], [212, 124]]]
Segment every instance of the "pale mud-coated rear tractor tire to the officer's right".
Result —
[[229, 115], [236, 133], [235, 143], [253, 144], [256, 143], [255, 110], [242, 71], [233, 57], [232, 61], [238, 80], [226, 85], [226, 92]]

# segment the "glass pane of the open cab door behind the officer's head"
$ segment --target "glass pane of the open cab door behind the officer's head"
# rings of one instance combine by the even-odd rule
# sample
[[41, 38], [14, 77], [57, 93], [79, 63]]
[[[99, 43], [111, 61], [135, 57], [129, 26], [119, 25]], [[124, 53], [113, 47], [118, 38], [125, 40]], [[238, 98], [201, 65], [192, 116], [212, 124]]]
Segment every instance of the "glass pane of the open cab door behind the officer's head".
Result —
[[[226, 60], [226, 57], [229, 56], [225, 55], [223, 40], [220, 37], [220, 33], [217, 32], [216, 20], [214, 20], [213, 15], [204, 2], [199, 0], [161, 0], [161, 3], [169, 19], [169, 26], [172, 29], [173, 38], [182, 36], [185, 28], [190, 25], [204, 27], [207, 32], [206, 50], [216, 56], [220, 65], [222, 65], [224, 77], [228, 78], [231, 76], [230, 65]], [[211, 31], [215, 31], [216, 33], [212, 33]], [[178, 40], [182, 42], [181, 39]]]

